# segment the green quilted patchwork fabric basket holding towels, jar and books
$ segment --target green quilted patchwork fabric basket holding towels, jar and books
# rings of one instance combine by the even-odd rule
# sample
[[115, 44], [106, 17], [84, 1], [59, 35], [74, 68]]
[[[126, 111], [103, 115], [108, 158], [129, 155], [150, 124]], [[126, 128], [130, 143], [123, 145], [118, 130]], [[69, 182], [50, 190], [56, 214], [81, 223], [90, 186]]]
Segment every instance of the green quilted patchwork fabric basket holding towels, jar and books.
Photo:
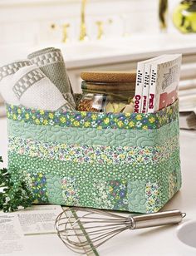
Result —
[[7, 105], [7, 119], [8, 170], [36, 204], [149, 213], [181, 186], [178, 101], [154, 114]]

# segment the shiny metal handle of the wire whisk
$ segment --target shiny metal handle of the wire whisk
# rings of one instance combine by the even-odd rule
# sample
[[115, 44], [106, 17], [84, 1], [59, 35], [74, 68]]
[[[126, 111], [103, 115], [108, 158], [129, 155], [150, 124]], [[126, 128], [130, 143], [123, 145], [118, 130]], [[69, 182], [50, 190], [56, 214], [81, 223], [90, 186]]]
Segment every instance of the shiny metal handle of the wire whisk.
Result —
[[143, 229], [167, 224], [178, 224], [186, 214], [181, 213], [178, 209], [168, 210], [155, 214], [141, 214], [130, 216], [132, 227], [130, 229]]

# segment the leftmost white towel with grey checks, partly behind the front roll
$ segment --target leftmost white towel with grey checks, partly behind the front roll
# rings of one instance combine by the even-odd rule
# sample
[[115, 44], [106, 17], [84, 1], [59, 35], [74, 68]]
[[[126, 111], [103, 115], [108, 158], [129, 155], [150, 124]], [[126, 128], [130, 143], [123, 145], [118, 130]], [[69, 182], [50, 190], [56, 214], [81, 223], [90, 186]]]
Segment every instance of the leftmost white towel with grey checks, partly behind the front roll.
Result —
[[19, 105], [20, 102], [17, 96], [12, 91], [12, 76], [23, 66], [30, 66], [32, 62], [29, 60], [22, 60], [12, 62], [0, 67], [0, 92], [4, 101], [9, 104]]

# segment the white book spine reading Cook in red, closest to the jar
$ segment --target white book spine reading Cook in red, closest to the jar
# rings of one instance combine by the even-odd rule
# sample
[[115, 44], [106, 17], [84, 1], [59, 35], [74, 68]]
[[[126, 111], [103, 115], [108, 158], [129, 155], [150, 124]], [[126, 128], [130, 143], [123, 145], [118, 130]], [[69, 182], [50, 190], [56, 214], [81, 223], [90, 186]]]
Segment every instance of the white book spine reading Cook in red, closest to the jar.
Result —
[[140, 113], [141, 111], [144, 69], [145, 69], [145, 65], [142, 62], [138, 62], [136, 84], [135, 84], [135, 104], [134, 104], [135, 113]]

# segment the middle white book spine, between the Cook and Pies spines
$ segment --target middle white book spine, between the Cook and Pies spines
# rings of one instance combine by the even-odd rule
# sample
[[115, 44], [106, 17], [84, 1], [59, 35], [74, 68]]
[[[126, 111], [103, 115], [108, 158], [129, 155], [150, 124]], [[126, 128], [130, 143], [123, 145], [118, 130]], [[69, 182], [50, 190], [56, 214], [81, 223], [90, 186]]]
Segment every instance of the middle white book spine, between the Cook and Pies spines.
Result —
[[142, 113], [147, 113], [148, 111], [148, 101], [149, 101], [149, 77], [151, 72], [151, 64], [145, 64], [145, 77], [143, 83], [143, 95], [142, 95]]

